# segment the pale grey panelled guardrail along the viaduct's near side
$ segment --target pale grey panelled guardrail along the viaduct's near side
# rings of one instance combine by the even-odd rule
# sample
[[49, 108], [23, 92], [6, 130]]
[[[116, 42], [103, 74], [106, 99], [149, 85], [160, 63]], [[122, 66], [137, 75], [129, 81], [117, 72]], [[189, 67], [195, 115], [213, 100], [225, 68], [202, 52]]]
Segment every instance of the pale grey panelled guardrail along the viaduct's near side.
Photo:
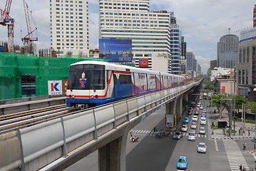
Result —
[[201, 81], [129, 98], [0, 135], [0, 170], [39, 170], [63, 162], [78, 148], [100, 147], [97, 145], [99, 139], [103, 140], [109, 132], [115, 132], [121, 125], [130, 124], [160, 108], [190, 88], [198, 86]]

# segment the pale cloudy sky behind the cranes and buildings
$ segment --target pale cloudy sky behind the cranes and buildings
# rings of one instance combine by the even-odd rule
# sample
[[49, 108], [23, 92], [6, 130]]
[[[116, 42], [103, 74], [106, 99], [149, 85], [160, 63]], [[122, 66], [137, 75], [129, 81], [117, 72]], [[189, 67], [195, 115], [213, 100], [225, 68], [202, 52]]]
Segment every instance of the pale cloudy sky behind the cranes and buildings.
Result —
[[[98, 48], [98, 0], [89, 1], [89, 48]], [[32, 11], [32, 29], [38, 28], [37, 50], [50, 47], [50, 9], [48, 0], [26, 0]], [[229, 33], [240, 36], [240, 31], [252, 27], [255, 0], [150, 0], [150, 11], [174, 12], [187, 51], [193, 51], [203, 73], [210, 61], [217, 59], [217, 42]], [[4, 9], [4, 3], [0, 9]], [[10, 16], [15, 19], [14, 44], [21, 45], [26, 36], [23, 2], [13, 1]], [[22, 30], [22, 32], [21, 32]], [[0, 26], [0, 43], [7, 41], [7, 28]]]

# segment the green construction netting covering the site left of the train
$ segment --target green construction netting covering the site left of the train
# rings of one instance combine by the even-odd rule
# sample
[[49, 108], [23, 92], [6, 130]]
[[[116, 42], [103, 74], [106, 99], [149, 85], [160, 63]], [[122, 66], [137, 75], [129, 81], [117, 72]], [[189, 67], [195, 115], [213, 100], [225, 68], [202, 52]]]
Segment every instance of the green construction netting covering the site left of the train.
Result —
[[36, 76], [36, 96], [48, 95], [48, 81], [68, 80], [68, 68], [78, 61], [96, 60], [66, 55], [58, 58], [0, 53], [0, 100], [21, 98], [21, 75]]

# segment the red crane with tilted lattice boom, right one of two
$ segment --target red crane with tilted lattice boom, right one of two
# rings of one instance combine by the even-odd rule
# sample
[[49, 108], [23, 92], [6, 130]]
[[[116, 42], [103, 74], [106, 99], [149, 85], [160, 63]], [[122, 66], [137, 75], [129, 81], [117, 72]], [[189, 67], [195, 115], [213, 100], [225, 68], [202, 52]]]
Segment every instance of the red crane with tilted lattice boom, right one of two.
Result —
[[[25, 17], [26, 17], [26, 28], [28, 30], [28, 34], [24, 36], [24, 38], [21, 38], [21, 40], [24, 42], [24, 45], [26, 47], [26, 52], [29, 53], [29, 46], [32, 41], [38, 41], [37, 36], [37, 28], [34, 28], [34, 30], [31, 29], [31, 22], [29, 19], [29, 6], [26, 4], [26, 1], [23, 0], [24, 4], [24, 11], [25, 11]], [[36, 37], [33, 36], [34, 31], [36, 31]]]

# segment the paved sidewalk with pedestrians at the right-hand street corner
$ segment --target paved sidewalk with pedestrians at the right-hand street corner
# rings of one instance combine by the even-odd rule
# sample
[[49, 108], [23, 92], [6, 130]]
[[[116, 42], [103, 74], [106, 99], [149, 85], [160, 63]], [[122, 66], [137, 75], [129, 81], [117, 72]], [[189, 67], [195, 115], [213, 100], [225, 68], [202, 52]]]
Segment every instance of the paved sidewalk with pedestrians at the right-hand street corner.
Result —
[[[219, 121], [218, 118], [219, 118], [219, 115], [217, 115], [217, 118], [213, 119], [213, 121], [215, 121], [215, 123], [217, 123], [217, 121]], [[222, 113], [222, 120], [226, 120], [226, 121], [229, 120], [228, 113], [225, 110]], [[232, 129], [234, 128], [233, 124], [234, 123], [232, 121]], [[235, 133], [235, 135], [234, 135], [234, 133], [231, 133], [230, 136], [229, 136], [228, 132], [225, 132], [226, 135], [224, 135], [222, 129], [215, 129], [215, 130], [213, 130], [213, 134], [212, 134], [212, 129], [210, 129], [210, 131], [209, 131], [210, 138], [215, 139], [215, 140], [242, 139], [242, 138], [252, 139], [252, 138], [256, 138], [255, 124], [254, 123], [245, 123], [245, 135], [239, 135], [240, 125], [242, 125], [242, 122], [235, 122], [235, 130], [237, 130], [237, 133]], [[227, 128], [227, 130], [228, 129], [229, 128]], [[248, 130], [250, 130], [250, 136], [248, 135]]]

